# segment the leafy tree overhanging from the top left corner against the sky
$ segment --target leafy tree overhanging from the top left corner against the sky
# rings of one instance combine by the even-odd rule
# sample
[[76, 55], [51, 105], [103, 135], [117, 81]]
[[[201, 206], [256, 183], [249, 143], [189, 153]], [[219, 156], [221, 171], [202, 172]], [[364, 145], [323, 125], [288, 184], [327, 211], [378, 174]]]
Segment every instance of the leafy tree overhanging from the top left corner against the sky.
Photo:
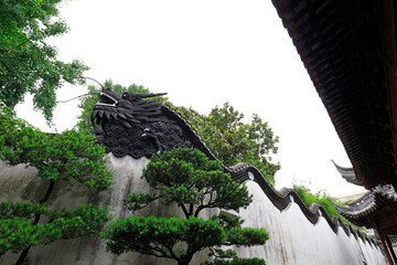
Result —
[[87, 70], [75, 60], [64, 63], [49, 38], [67, 32], [58, 18], [62, 0], [0, 0], [0, 102], [13, 108], [24, 95], [34, 95], [36, 109], [51, 121], [55, 92], [63, 82], [83, 83]]

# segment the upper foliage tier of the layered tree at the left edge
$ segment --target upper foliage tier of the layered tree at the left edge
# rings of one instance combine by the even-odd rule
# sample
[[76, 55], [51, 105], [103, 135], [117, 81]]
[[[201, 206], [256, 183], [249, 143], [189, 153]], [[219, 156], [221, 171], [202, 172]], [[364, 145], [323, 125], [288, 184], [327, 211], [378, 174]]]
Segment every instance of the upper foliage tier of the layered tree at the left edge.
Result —
[[14, 118], [7, 108], [0, 112], [0, 159], [9, 165], [35, 167], [37, 176], [53, 180], [74, 179], [99, 190], [111, 184], [105, 167], [104, 147], [93, 136], [75, 130], [57, 135], [39, 131], [26, 121]]

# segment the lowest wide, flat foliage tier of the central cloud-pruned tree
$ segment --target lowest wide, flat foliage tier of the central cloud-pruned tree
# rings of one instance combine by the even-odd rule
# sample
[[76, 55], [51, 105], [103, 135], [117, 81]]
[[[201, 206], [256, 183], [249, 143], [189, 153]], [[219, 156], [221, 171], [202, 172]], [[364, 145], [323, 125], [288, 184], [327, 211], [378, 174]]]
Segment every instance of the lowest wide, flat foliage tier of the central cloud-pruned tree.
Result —
[[[117, 220], [103, 236], [109, 240], [108, 248], [116, 254], [136, 251], [158, 257], [174, 255], [178, 261], [186, 254], [222, 244], [226, 235], [213, 220], [149, 216]], [[187, 247], [176, 251], [175, 246], [180, 242], [184, 242]]]

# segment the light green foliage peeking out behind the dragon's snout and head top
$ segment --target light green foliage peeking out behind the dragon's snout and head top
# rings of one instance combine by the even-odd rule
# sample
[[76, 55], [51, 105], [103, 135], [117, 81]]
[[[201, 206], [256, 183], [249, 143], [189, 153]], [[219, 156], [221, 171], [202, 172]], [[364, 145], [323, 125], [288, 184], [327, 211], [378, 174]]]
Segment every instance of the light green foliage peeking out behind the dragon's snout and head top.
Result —
[[[148, 88], [142, 85], [132, 84], [128, 87], [114, 84], [111, 80], [105, 81], [104, 87], [110, 88], [119, 95], [122, 95], [125, 92], [129, 93], [140, 93], [140, 94], [148, 94], [150, 93]], [[76, 128], [79, 132], [86, 135], [93, 135], [94, 128], [90, 121], [90, 115], [93, 113], [95, 104], [98, 103], [98, 97], [96, 96], [101, 88], [97, 88], [95, 86], [88, 86], [88, 96], [84, 97], [79, 104], [79, 108], [82, 108], [82, 114], [78, 116], [78, 121]]]

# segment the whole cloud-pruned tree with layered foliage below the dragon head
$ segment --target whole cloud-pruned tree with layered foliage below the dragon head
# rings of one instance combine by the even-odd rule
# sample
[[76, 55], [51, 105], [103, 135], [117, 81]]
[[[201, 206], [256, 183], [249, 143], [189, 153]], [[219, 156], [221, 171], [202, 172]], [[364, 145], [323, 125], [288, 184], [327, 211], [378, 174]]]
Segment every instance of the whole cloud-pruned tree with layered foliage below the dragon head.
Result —
[[[172, 258], [186, 265], [193, 255], [208, 248], [222, 264], [265, 264], [262, 259], [239, 259], [232, 250], [221, 246], [265, 244], [265, 229], [242, 227], [244, 220], [222, 213], [210, 220], [198, 218], [204, 209], [238, 210], [251, 201], [244, 184], [232, 181], [217, 160], [210, 160], [195, 149], [173, 149], [151, 158], [143, 177], [153, 193], [133, 193], [125, 200], [132, 211], [160, 200], [165, 205], [176, 203], [184, 219], [131, 216], [112, 222], [101, 234], [108, 239], [110, 252], [139, 252]], [[212, 263], [206, 263], [212, 264]]]

